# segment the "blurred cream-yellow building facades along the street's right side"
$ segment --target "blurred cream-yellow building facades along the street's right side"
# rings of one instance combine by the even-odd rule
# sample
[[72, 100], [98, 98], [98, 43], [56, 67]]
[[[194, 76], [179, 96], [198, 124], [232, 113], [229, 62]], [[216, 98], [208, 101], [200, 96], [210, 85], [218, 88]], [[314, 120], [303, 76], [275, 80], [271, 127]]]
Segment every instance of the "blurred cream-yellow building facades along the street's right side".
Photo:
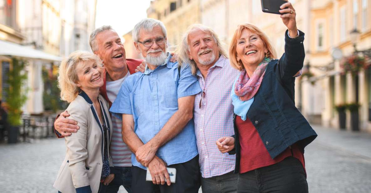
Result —
[[[183, 0], [180, 7], [174, 6], [178, 2], [155, 0], [147, 10], [148, 17], [164, 22], [168, 40], [174, 45], [190, 24], [203, 23], [216, 31], [228, 49], [237, 25], [253, 23], [269, 36], [278, 57], [284, 52], [286, 26], [279, 15], [263, 13], [260, 0]], [[371, 131], [371, 68], [361, 70], [358, 76], [343, 75], [340, 65], [344, 57], [355, 53], [354, 44], [358, 55], [370, 53], [371, 0], [290, 2], [297, 13], [298, 29], [305, 32], [303, 72], [313, 75], [296, 79], [297, 107], [312, 123], [339, 127], [335, 105], [358, 102], [360, 128]], [[354, 29], [359, 34], [351, 38]], [[334, 58], [334, 50], [339, 58]], [[347, 112], [348, 129], [349, 120]]]

